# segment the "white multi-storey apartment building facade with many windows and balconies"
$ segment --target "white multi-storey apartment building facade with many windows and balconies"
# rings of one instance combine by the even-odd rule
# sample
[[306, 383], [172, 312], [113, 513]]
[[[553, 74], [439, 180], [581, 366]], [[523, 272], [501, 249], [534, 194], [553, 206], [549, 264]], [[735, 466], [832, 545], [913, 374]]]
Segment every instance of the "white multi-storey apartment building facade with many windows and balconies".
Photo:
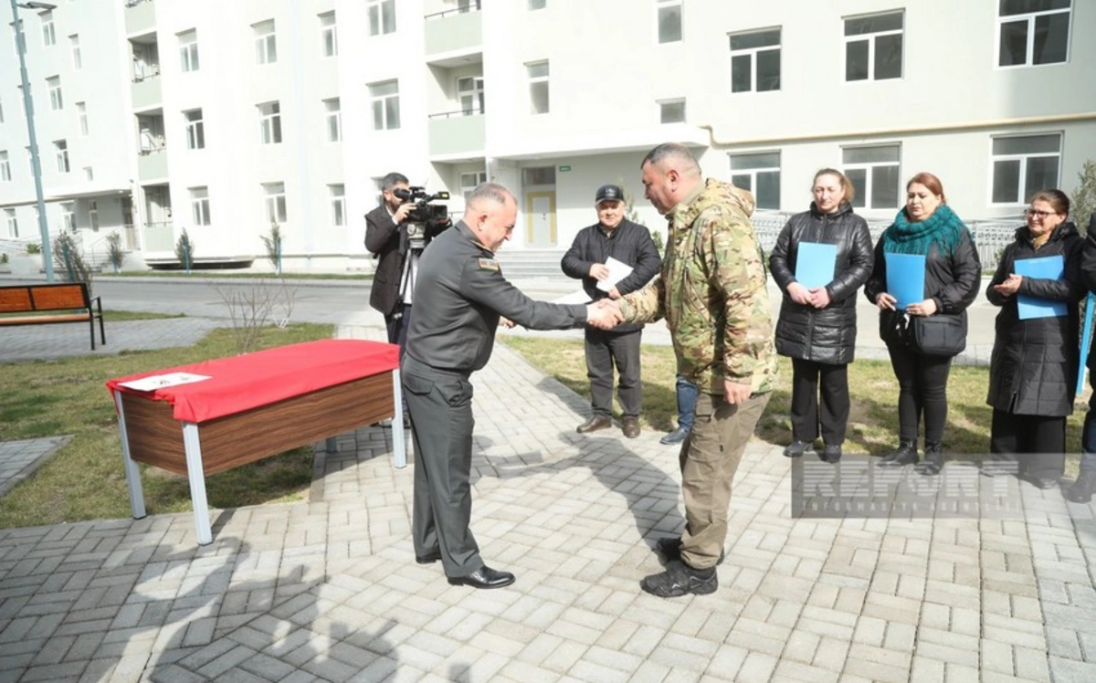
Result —
[[[53, 231], [122, 229], [134, 263], [367, 269], [364, 214], [398, 170], [514, 190], [507, 250], [567, 249], [639, 162], [797, 212], [844, 170], [886, 220], [938, 174], [971, 219], [1017, 219], [1096, 157], [1094, 0], [58, 0], [21, 19]], [[52, 32], [52, 33], [50, 33]], [[14, 49], [0, 49], [0, 237], [37, 234]], [[1091, 80], [1091, 75], [1087, 76]], [[8, 169], [7, 171], [4, 169]]]

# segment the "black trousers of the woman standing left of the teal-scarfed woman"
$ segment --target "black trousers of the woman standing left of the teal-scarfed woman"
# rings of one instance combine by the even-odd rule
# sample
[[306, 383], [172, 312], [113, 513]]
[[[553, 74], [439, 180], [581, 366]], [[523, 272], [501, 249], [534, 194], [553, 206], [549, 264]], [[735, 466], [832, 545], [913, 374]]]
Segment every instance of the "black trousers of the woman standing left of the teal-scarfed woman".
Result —
[[822, 441], [840, 446], [845, 443], [848, 409], [848, 365], [791, 358], [792, 439], [810, 443], [821, 425]]

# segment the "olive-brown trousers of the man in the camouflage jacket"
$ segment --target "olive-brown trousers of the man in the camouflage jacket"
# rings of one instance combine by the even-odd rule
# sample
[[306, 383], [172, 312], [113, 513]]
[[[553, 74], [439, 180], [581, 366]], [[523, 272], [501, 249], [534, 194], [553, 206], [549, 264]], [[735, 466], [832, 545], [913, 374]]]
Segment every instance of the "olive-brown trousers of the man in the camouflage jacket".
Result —
[[754, 395], [732, 406], [722, 396], [697, 396], [693, 431], [680, 456], [685, 498], [682, 559], [694, 569], [715, 567], [723, 551], [731, 482], [768, 398]]

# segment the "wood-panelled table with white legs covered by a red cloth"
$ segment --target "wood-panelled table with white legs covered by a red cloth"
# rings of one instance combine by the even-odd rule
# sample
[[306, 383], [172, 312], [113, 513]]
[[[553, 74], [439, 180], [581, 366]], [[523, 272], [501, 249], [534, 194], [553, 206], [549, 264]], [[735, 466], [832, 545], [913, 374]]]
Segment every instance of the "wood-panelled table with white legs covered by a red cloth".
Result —
[[[124, 383], [187, 373], [208, 379], [140, 391]], [[118, 377], [118, 412], [135, 519], [145, 494], [137, 463], [190, 479], [199, 545], [213, 542], [205, 475], [392, 419], [397, 467], [407, 465], [399, 346], [322, 340]]]

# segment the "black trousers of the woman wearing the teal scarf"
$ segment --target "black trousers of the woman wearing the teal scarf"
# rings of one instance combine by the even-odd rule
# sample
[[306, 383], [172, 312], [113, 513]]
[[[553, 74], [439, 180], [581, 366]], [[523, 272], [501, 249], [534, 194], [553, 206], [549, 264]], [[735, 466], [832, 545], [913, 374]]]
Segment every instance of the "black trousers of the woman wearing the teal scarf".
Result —
[[950, 356], [921, 355], [904, 345], [887, 345], [898, 379], [899, 439], [917, 443], [921, 417], [925, 417], [925, 445], [939, 444], [948, 419]]

